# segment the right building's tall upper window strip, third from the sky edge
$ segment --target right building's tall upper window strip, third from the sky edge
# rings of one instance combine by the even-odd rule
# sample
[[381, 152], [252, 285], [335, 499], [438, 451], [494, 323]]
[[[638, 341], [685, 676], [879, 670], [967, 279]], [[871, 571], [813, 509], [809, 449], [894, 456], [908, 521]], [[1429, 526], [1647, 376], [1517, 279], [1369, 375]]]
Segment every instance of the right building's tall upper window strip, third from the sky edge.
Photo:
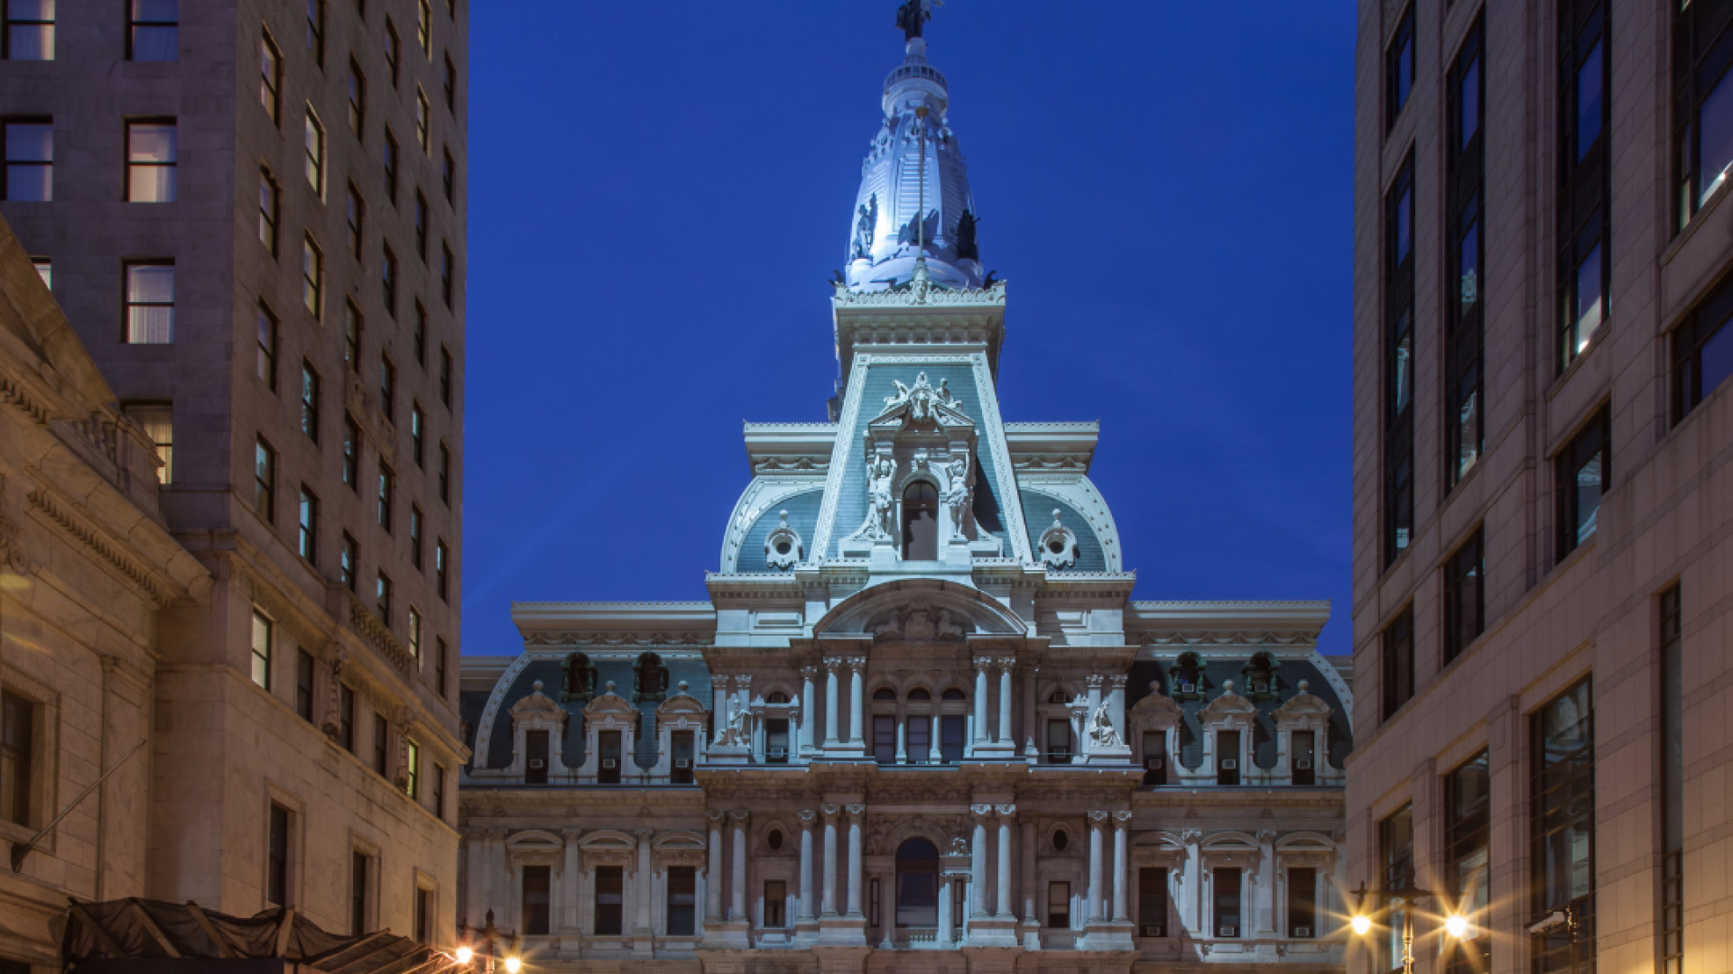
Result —
[[1589, 348], [1608, 310], [1610, 0], [1558, 3], [1558, 367]]

